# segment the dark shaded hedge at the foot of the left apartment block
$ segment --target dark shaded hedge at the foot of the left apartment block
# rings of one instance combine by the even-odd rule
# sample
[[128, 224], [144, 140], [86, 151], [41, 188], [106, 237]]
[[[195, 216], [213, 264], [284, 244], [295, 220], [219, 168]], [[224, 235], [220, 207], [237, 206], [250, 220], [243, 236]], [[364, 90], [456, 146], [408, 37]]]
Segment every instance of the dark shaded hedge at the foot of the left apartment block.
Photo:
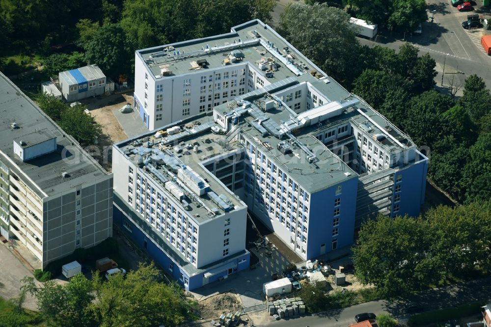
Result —
[[[118, 243], [113, 238], [109, 237], [98, 245], [89, 248], [78, 248], [72, 254], [50, 262], [44, 269], [44, 272], [49, 272], [51, 275], [58, 276], [61, 274], [61, 267], [72, 261], [78, 261], [80, 264], [93, 266], [95, 261], [104, 257], [110, 257], [118, 253]], [[50, 278], [51, 279], [51, 276]]]

